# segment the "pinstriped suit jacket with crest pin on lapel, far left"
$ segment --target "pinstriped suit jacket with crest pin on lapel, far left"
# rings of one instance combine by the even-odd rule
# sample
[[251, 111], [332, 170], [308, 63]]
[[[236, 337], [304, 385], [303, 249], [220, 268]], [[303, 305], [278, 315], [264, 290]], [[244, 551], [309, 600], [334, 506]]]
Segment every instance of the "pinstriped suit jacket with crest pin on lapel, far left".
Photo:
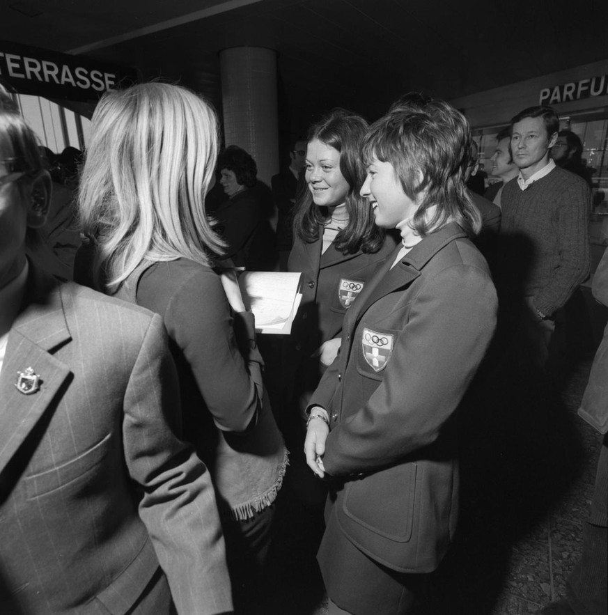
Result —
[[209, 473], [171, 428], [162, 320], [35, 271], [28, 293], [0, 373], [0, 613], [163, 615], [145, 591], [166, 586], [159, 566], [180, 613], [229, 611]]

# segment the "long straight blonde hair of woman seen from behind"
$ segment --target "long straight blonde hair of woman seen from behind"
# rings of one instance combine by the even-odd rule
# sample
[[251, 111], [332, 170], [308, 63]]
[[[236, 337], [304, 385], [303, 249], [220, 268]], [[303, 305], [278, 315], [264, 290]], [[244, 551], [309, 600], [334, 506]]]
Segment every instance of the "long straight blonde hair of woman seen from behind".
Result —
[[221, 254], [205, 214], [218, 141], [215, 111], [182, 86], [140, 84], [100, 100], [78, 202], [107, 290], [143, 259], [207, 265]]

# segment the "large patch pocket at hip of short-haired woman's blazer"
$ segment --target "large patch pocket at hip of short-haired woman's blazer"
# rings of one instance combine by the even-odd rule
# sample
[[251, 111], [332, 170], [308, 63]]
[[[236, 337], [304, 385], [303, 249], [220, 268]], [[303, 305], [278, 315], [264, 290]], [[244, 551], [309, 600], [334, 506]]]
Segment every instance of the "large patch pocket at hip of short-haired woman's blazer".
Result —
[[343, 513], [379, 536], [405, 543], [412, 537], [415, 463], [397, 465], [345, 486]]

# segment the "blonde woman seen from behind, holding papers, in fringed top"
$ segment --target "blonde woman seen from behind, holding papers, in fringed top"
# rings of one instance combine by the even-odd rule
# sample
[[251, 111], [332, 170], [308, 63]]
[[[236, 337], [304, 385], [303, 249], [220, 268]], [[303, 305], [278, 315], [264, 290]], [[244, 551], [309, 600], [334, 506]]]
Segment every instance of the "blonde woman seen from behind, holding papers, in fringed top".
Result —
[[169, 332], [183, 433], [214, 479], [238, 605], [258, 585], [287, 452], [265, 400], [254, 316], [235, 278], [212, 268], [224, 247], [204, 203], [217, 148], [214, 111], [187, 89], [109, 93], [93, 115], [79, 210], [98, 285], [159, 313]]

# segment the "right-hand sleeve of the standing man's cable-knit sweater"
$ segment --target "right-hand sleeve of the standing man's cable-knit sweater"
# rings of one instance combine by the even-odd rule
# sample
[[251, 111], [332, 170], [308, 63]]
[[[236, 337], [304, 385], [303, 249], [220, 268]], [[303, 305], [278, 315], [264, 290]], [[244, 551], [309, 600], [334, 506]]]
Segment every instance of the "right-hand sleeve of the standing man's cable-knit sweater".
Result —
[[547, 283], [534, 297], [534, 305], [551, 315], [561, 308], [589, 274], [588, 217], [591, 194], [586, 182], [559, 182], [556, 210], [558, 258]]

